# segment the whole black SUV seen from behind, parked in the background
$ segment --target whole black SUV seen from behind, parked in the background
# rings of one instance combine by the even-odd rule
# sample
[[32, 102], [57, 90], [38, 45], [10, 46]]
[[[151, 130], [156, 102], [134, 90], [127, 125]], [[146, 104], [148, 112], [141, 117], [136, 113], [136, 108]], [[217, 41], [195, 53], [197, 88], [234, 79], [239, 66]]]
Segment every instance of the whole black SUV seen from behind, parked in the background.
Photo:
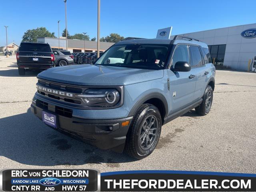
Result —
[[45, 70], [55, 66], [52, 48], [46, 43], [20, 43], [16, 59], [19, 75], [25, 75], [26, 70]]

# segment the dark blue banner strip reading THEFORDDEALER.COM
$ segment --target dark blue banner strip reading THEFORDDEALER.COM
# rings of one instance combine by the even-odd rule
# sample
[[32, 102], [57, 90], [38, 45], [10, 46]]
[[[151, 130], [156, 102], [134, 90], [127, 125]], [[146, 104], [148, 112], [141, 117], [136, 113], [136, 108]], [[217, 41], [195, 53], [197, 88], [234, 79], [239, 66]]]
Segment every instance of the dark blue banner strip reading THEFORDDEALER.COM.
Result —
[[256, 174], [140, 170], [101, 174], [102, 191], [256, 191]]

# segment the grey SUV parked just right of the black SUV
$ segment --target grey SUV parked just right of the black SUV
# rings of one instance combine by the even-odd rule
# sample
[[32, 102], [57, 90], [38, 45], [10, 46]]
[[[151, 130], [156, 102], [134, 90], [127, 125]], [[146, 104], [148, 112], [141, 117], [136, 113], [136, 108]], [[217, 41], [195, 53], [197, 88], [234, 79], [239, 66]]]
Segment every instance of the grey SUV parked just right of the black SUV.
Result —
[[56, 66], [65, 66], [74, 64], [74, 56], [70, 53], [70, 51], [66, 50], [53, 50], [52, 51], [55, 56], [55, 64]]

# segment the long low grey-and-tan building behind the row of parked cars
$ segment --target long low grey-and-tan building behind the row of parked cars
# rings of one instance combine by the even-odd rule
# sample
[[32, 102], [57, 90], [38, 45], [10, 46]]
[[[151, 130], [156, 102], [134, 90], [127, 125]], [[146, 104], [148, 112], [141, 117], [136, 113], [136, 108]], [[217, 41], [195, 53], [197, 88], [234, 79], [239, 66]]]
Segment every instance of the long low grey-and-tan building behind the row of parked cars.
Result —
[[[48, 43], [52, 49], [59, 48], [60, 41], [60, 49], [66, 50], [66, 38], [52, 38], [52, 37], [39, 37], [37, 38], [37, 42], [40, 43]], [[114, 43], [110, 42], [100, 42], [100, 51], [107, 50]], [[96, 41], [84, 41], [84, 40], [76, 40], [76, 39], [68, 39], [68, 50], [70, 52], [94, 52], [97, 50], [97, 42]]]

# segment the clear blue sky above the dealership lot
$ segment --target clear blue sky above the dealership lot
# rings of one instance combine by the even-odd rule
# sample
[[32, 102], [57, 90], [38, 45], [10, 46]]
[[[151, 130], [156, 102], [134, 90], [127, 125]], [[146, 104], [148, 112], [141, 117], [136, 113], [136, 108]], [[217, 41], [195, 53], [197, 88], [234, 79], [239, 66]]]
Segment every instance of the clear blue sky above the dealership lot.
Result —
[[[172, 35], [256, 23], [256, 1], [244, 0], [101, 0], [100, 37], [155, 38], [173, 26]], [[63, 0], [0, 0], [0, 46], [20, 44], [26, 30], [46, 27], [58, 36], [65, 28]], [[70, 35], [97, 36], [97, 0], [67, 0]]]

